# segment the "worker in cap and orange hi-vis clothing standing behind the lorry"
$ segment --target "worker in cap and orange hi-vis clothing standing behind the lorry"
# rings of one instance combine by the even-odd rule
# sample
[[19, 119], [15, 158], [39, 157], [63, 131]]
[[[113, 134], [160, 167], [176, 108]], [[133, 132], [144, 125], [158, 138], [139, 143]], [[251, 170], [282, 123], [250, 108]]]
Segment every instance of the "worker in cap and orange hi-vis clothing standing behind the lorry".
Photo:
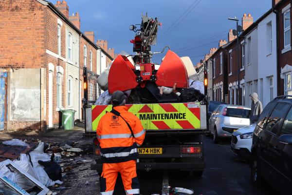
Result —
[[142, 145], [145, 130], [141, 121], [128, 112], [123, 92], [115, 91], [111, 97], [112, 110], [104, 115], [97, 126], [97, 139], [103, 170], [100, 176], [100, 192], [112, 195], [118, 173], [121, 174], [127, 195], [139, 195], [136, 173], [137, 146]]

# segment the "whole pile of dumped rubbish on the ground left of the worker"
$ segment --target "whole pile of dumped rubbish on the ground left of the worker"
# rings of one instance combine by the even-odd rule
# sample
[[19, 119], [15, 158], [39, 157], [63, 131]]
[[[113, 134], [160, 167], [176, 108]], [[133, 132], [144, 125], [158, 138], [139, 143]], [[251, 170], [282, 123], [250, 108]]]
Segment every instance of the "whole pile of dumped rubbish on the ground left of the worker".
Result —
[[[1, 152], [3, 149], [8, 152]], [[90, 144], [72, 141], [3, 141], [0, 144], [0, 195], [15, 195], [11, 189], [23, 195], [57, 195], [70, 188], [62, 184], [73, 168], [88, 169], [82, 165], [92, 160], [82, 155], [92, 151]]]

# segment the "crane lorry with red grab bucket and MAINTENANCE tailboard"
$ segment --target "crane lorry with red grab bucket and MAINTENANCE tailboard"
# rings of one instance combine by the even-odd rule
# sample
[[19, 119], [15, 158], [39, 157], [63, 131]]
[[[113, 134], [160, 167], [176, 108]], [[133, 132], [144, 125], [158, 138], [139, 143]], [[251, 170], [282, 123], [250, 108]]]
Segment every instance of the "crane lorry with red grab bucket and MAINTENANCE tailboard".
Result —
[[[159, 25], [157, 18], [147, 15], [142, 15], [141, 24], [130, 25], [130, 30], [136, 33], [130, 40], [135, 54], [119, 55], [114, 59], [108, 76], [108, 90], [112, 94], [116, 90], [147, 88], [156, 97], [155, 103], [126, 104], [128, 111], [141, 120], [146, 130], [145, 141], [138, 148], [137, 169], [180, 169], [201, 176], [205, 166], [202, 136], [207, 128], [206, 98], [200, 102], [179, 102], [173, 96], [157, 96], [156, 86], [172, 88], [176, 84], [176, 88], [187, 88], [189, 78], [196, 74], [193, 65], [187, 67], [185, 60], [171, 50], [167, 51], [158, 70], [155, 69], [152, 55], [164, 52], [151, 52]], [[111, 105], [91, 106], [93, 131], [96, 131], [100, 118], [110, 110]], [[91, 169], [101, 172], [98, 146], [95, 146], [94, 157], [96, 164], [92, 164]]]

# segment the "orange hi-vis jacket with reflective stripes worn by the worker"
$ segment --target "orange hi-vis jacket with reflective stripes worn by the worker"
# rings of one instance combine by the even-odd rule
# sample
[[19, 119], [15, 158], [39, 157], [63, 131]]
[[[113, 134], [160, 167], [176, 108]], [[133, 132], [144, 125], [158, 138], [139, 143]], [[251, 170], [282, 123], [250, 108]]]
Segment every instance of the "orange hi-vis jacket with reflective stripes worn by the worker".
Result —
[[131, 126], [134, 137], [123, 118], [107, 113], [101, 117], [97, 126], [97, 138], [100, 142], [101, 159], [104, 163], [118, 163], [136, 160], [137, 145], [142, 145], [145, 130], [141, 121], [128, 112], [126, 106], [114, 107]]

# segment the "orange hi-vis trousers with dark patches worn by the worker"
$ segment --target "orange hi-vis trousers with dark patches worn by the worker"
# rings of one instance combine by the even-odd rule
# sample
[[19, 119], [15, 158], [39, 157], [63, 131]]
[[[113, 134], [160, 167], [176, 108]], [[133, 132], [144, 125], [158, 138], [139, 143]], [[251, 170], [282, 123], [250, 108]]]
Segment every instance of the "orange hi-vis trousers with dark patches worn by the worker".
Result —
[[118, 173], [121, 174], [126, 195], [139, 195], [140, 185], [136, 173], [136, 160], [119, 163], [104, 163], [100, 181], [102, 195], [112, 195]]

